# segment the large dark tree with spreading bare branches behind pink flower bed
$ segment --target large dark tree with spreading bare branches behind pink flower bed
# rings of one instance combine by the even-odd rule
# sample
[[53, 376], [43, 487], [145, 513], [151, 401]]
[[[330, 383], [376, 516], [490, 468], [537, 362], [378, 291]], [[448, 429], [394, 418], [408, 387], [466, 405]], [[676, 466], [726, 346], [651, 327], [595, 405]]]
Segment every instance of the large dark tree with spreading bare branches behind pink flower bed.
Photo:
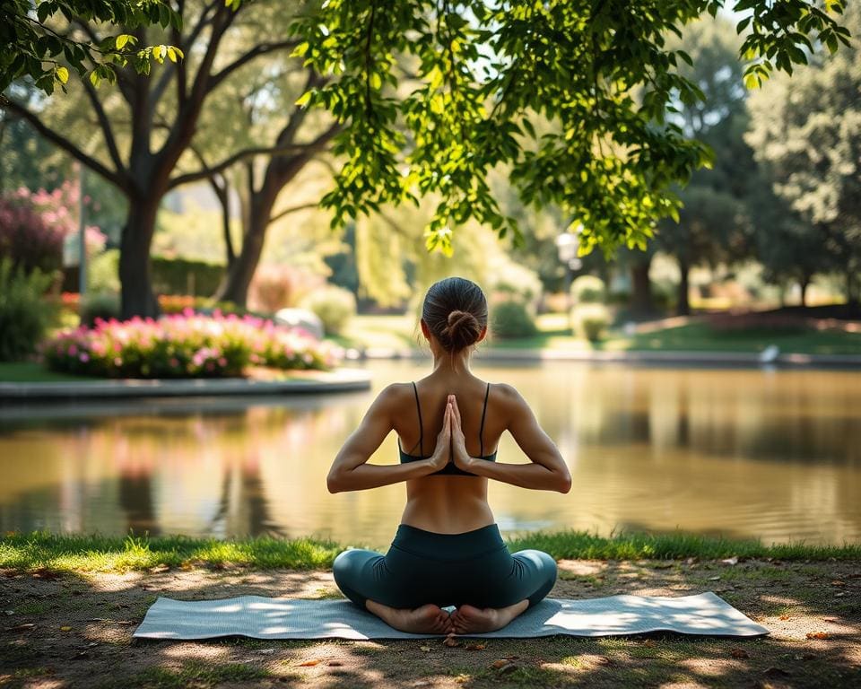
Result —
[[[173, 7], [182, 20], [181, 29], [177, 23], [166, 33], [143, 25], [121, 28], [135, 36], [137, 45], [146, 45], [150, 40], [158, 45], [170, 43], [186, 57], [176, 63], [169, 59], [158, 74], [150, 77], [136, 73], [133, 65], [113, 65], [118, 94], [100, 95], [89, 80], [74, 86], [102, 139], [97, 152], [84, 150], [74, 135], [51, 126], [48, 104], [28, 105], [18, 97], [20, 89], [14, 84], [4, 101], [9, 114], [27, 120], [40, 135], [108, 179], [126, 196], [128, 214], [120, 240], [119, 262], [122, 314], [126, 318], [158, 313], [149, 256], [161, 198], [170, 189], [206, 179], [257, 154], [295, 153], [291, 145], [222, 151], [222, 157], [205, 169], [174, 174], [178, 161], [188, 152], [204, 104], [213, 92], [229, 78], [240, 75], [241, 70], [253, 66], [259, 57], [275, 51], [286, 52], [298, 42], [284, 31], [293, 8], [274, 0], [232, 5], [228, 6], [224, 0], [177, 2]], [[281, 17], [281, 22], [257, 22], [257, 13], [267, 10], [270, 17], [276, 14]], [[89, 39], [100, 45], [104, 40], [100, 31], [98, 23], [73, 17], [58, 32], [70, 39]], [[254, 38], [250, 45], [248, 35]], [[69, 88], [70, 91], [73, 88], [71, 82]], [[80, 121], [80, 113], [75, 115]]]

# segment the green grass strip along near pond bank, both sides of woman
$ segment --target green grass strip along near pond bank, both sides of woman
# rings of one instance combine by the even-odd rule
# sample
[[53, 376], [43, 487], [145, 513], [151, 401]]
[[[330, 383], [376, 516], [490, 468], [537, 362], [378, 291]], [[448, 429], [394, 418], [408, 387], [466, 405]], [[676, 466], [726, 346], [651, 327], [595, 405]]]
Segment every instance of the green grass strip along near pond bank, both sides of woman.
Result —
[[[856, 545], [763, 545], [756, 540], [697, 536], [683, 532], [597, 536], [585, 531], [535, 532], [508, 539], [512, 552], [538, 548], [556, 559], [638, 560], [698, 557], [816, 560], [861, 558]], [[313, 538], [270, 536], [219, 541], [188, 536], [79, 536], [47, 532], [10, 533], [0, 538], [0, 569], [14, 571], [123, 572], [153, 567], [329, 569], [344, 546]]]

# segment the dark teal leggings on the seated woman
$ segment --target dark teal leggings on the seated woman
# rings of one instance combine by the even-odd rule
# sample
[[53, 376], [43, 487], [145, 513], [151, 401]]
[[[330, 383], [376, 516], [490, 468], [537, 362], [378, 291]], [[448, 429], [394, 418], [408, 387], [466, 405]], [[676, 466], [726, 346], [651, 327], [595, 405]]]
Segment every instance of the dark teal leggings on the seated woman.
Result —
[[556, 582], [556, 561], [540, 550], [509, 553], [496, 524], [463, 534], [437, 534], [401, 524], [387, 554], [352, 549], [332, 566], [335, 583], [365, 609], [367, 599], [414, 608], [529, 606]]

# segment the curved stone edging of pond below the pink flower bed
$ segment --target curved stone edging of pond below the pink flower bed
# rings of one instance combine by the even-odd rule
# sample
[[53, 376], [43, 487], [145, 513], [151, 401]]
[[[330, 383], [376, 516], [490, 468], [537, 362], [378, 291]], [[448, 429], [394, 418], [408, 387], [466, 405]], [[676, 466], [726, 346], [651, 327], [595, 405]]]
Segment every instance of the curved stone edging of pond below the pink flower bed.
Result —
[[0, 383], [0, 400], [309, 394], [367, 389], [370, 389], [368, 371], [337, 369], [320, 371], [314, 378], [291, 380], [122, 379], [92, 382]]

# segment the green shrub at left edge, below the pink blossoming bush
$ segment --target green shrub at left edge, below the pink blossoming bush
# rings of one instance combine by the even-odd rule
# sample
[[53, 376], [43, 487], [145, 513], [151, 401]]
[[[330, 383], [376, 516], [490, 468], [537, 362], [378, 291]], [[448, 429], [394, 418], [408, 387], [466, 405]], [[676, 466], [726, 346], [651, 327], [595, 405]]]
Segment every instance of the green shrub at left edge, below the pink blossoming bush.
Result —
[[19, 361], [36, 350], [55, 316], [54, 301], [45, 292], [54, 275], [24, 266], [13, 267], [11, 257], [0, 258], [0, 361]]

